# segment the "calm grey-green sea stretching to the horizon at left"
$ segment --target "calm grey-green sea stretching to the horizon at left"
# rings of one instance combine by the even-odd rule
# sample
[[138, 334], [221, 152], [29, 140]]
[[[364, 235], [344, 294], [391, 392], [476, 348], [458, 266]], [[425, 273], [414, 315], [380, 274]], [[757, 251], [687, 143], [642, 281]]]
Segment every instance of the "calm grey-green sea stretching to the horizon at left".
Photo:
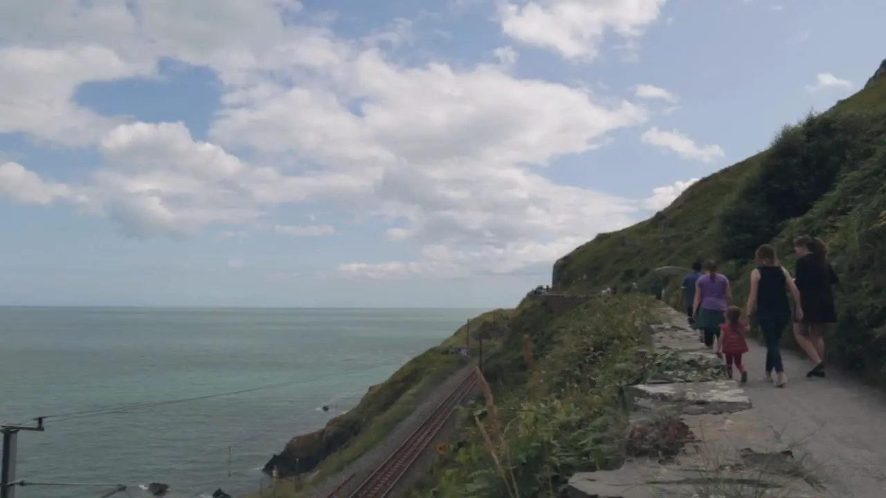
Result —
[[47, 416], [19, 432], [16, 496], [258, 491], [287, 440], [480, 311], [0, 307], [0, 423]]

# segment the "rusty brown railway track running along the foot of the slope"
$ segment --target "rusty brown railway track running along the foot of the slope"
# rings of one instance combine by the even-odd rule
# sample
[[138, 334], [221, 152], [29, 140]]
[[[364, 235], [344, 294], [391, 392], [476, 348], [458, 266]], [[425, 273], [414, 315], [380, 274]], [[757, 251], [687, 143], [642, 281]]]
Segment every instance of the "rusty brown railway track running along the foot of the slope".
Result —
[[[447, 398], [440, 402], [439, 406], [421, 425], [416, 428], [408, 438], [400, 444], [392, 454], [387, 457], [385, 462], [377, 467], [375, 471], [369, 474], [369, 477], [363, 481], [360, 487], [349, 498], [385, 498], [394, 486], [400, 482], [400, 479], [406, 474], [406, 471], [416, 462], [419, 455], [422, 454], [424, 448], [428, 447], [431, 440], [439, 433], [443, 425], [449, 420], [449, 416], [461, 404], [465, 395], [477, 385], [477, 377], [473, 370], [470, 374], [462, 379], [462, 382], [455, 387]], [[351, 476], [354, 477], [354, 476]], [[350, 480], [350, 478], [348, 478]], [[331, 496], [336, 495], [333, 493]]]

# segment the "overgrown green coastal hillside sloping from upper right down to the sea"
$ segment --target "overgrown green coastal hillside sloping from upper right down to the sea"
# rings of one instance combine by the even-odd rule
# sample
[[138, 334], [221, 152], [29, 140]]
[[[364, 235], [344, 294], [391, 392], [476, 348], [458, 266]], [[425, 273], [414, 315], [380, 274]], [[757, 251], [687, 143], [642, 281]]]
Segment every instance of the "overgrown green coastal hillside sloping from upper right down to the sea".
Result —
[[[454, 441], [462, 449], [443, 455], [415, 495], [464, 496], [465, 486], [476, 496], [507, 496], [513, 491], [508, 486], [530, 495], [563, 489], [571, 473], [587, 463], [617, 468], [624, 454], [610, 444], [618, 440], [613, 433], [625, 430], [615, 415], [624, 386], [685, 367], [672, 358], [655, 364], [637, 358], [637, 347], [649, 338], [653, 303], [636, 289], [648, 289], [662, 279], [665, 295], [672, 296], [670, 304], [680, 304], [680, 293], [674, 292], [678, 279], [658, 276], [653, 271], [657, 267], [688, 266], [698, 258], [717, 260], [734, 281], [736, 299], [742, 300], [758, 245], [773, 244], [789, 266], [793, 237], [822, 237], [843, 280], [837, 292], [840, 330], [832, 359], [886, 381], [880, 368], [886, 361], [883, 76], [886, 61], [864, 89], [825, 113], [782, 128], [765, 151], [703, 178], [648, 220], [600, 234], [564, 255], [552, 268], [553, 292], [527, 296], [513, 310], [475, 319], [487, 321], [498, 314], [507, 321], [506, 327], [486, 326], [483, 332], [496, 341], [498, 351], [484, 374], [500, 416], [513, 424], [515, 432], [498, 434], [511, 454], [487, 451], [481, 433], [494, 432], [494, 427], [468, 416]], [[606, 287], [617, 289], [618, 295], [600, 299]], [[315, 471], [330, 455], [353, 448], [356, 440], [367, 438], [370, 421], [388, 414], [405, 393], [421, 392], [423, 382], [429, 386], [458, 368], [447, 349], [465, 344], [466, 333], [456, 332], [384, 384], [370, 388], [351, 412], [291, 440], [265, 471], [276, 466], [282, 477]], [[527, 351], [532, 358], [527, 359]], [[704, 369], [696, 365], [688, 370], [696, 372], [696, 379], [716, 378]], [[437, 380], [428, 383], [429, 377]], [[365, 447], [384, 439], [381, 429], [370, 435]], [[546, 446], [555, 443], [561, 446]], [[584, 460], [552, 461], [551, 454], [544, 453], [555, 450], [583, 455]], [[500, 479], [497, 462], [506, 456], [519, 459], [532, 479], [510, 484]]]

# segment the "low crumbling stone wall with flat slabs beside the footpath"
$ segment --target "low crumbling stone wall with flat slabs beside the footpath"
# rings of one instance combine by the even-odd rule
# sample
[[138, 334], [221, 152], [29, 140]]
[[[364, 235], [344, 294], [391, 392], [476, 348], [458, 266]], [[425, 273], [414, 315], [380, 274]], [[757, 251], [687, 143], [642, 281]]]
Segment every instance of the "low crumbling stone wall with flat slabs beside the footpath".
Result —
[[[689, 328], [686, 315], [662, 307], [660, 317], [652, 325], [656, 353], [672, 352], [707, 365], [706, 371], [718, 371], [722, 363]], [[626, 448], [636, 447], [633, 440], [639, 437], [648, 443], [650, 436], [665, 440], [674, 434], [679, 444], [671, 445], [676, 449], [669, 455], [629, 457], [616, 471], [576, 474], [569, 481], [569, 498], [824, 496], [803, 479], [793, 453], [761, 419], [741, 386], [727, 380], [725, 370], [723, 377], [679, 382], [674, 373], [628, 387], [632, 413]]]

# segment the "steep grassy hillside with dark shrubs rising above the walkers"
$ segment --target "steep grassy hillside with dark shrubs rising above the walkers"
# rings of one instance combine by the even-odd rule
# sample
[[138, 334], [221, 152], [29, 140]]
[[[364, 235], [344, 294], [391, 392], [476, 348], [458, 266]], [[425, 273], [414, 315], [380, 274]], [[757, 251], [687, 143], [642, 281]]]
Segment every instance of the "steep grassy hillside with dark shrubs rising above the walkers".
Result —
[[[636, 282], [642, 290], [657, 277], [653, 268], [714, 259], [743, 302], [756, 247], [775, 245], [792, 268], [791, 240], [801, 234], [828, 243], [843, 280], [830, 360], [886, 380], [886, 61], [864, 89], [781, 129], [766, 151], [692, 185], [649, 220], [564, 256], [554, 285], [583, 293], [629, 291]], [[673, 305], [678, 280], [667, 282]]]

